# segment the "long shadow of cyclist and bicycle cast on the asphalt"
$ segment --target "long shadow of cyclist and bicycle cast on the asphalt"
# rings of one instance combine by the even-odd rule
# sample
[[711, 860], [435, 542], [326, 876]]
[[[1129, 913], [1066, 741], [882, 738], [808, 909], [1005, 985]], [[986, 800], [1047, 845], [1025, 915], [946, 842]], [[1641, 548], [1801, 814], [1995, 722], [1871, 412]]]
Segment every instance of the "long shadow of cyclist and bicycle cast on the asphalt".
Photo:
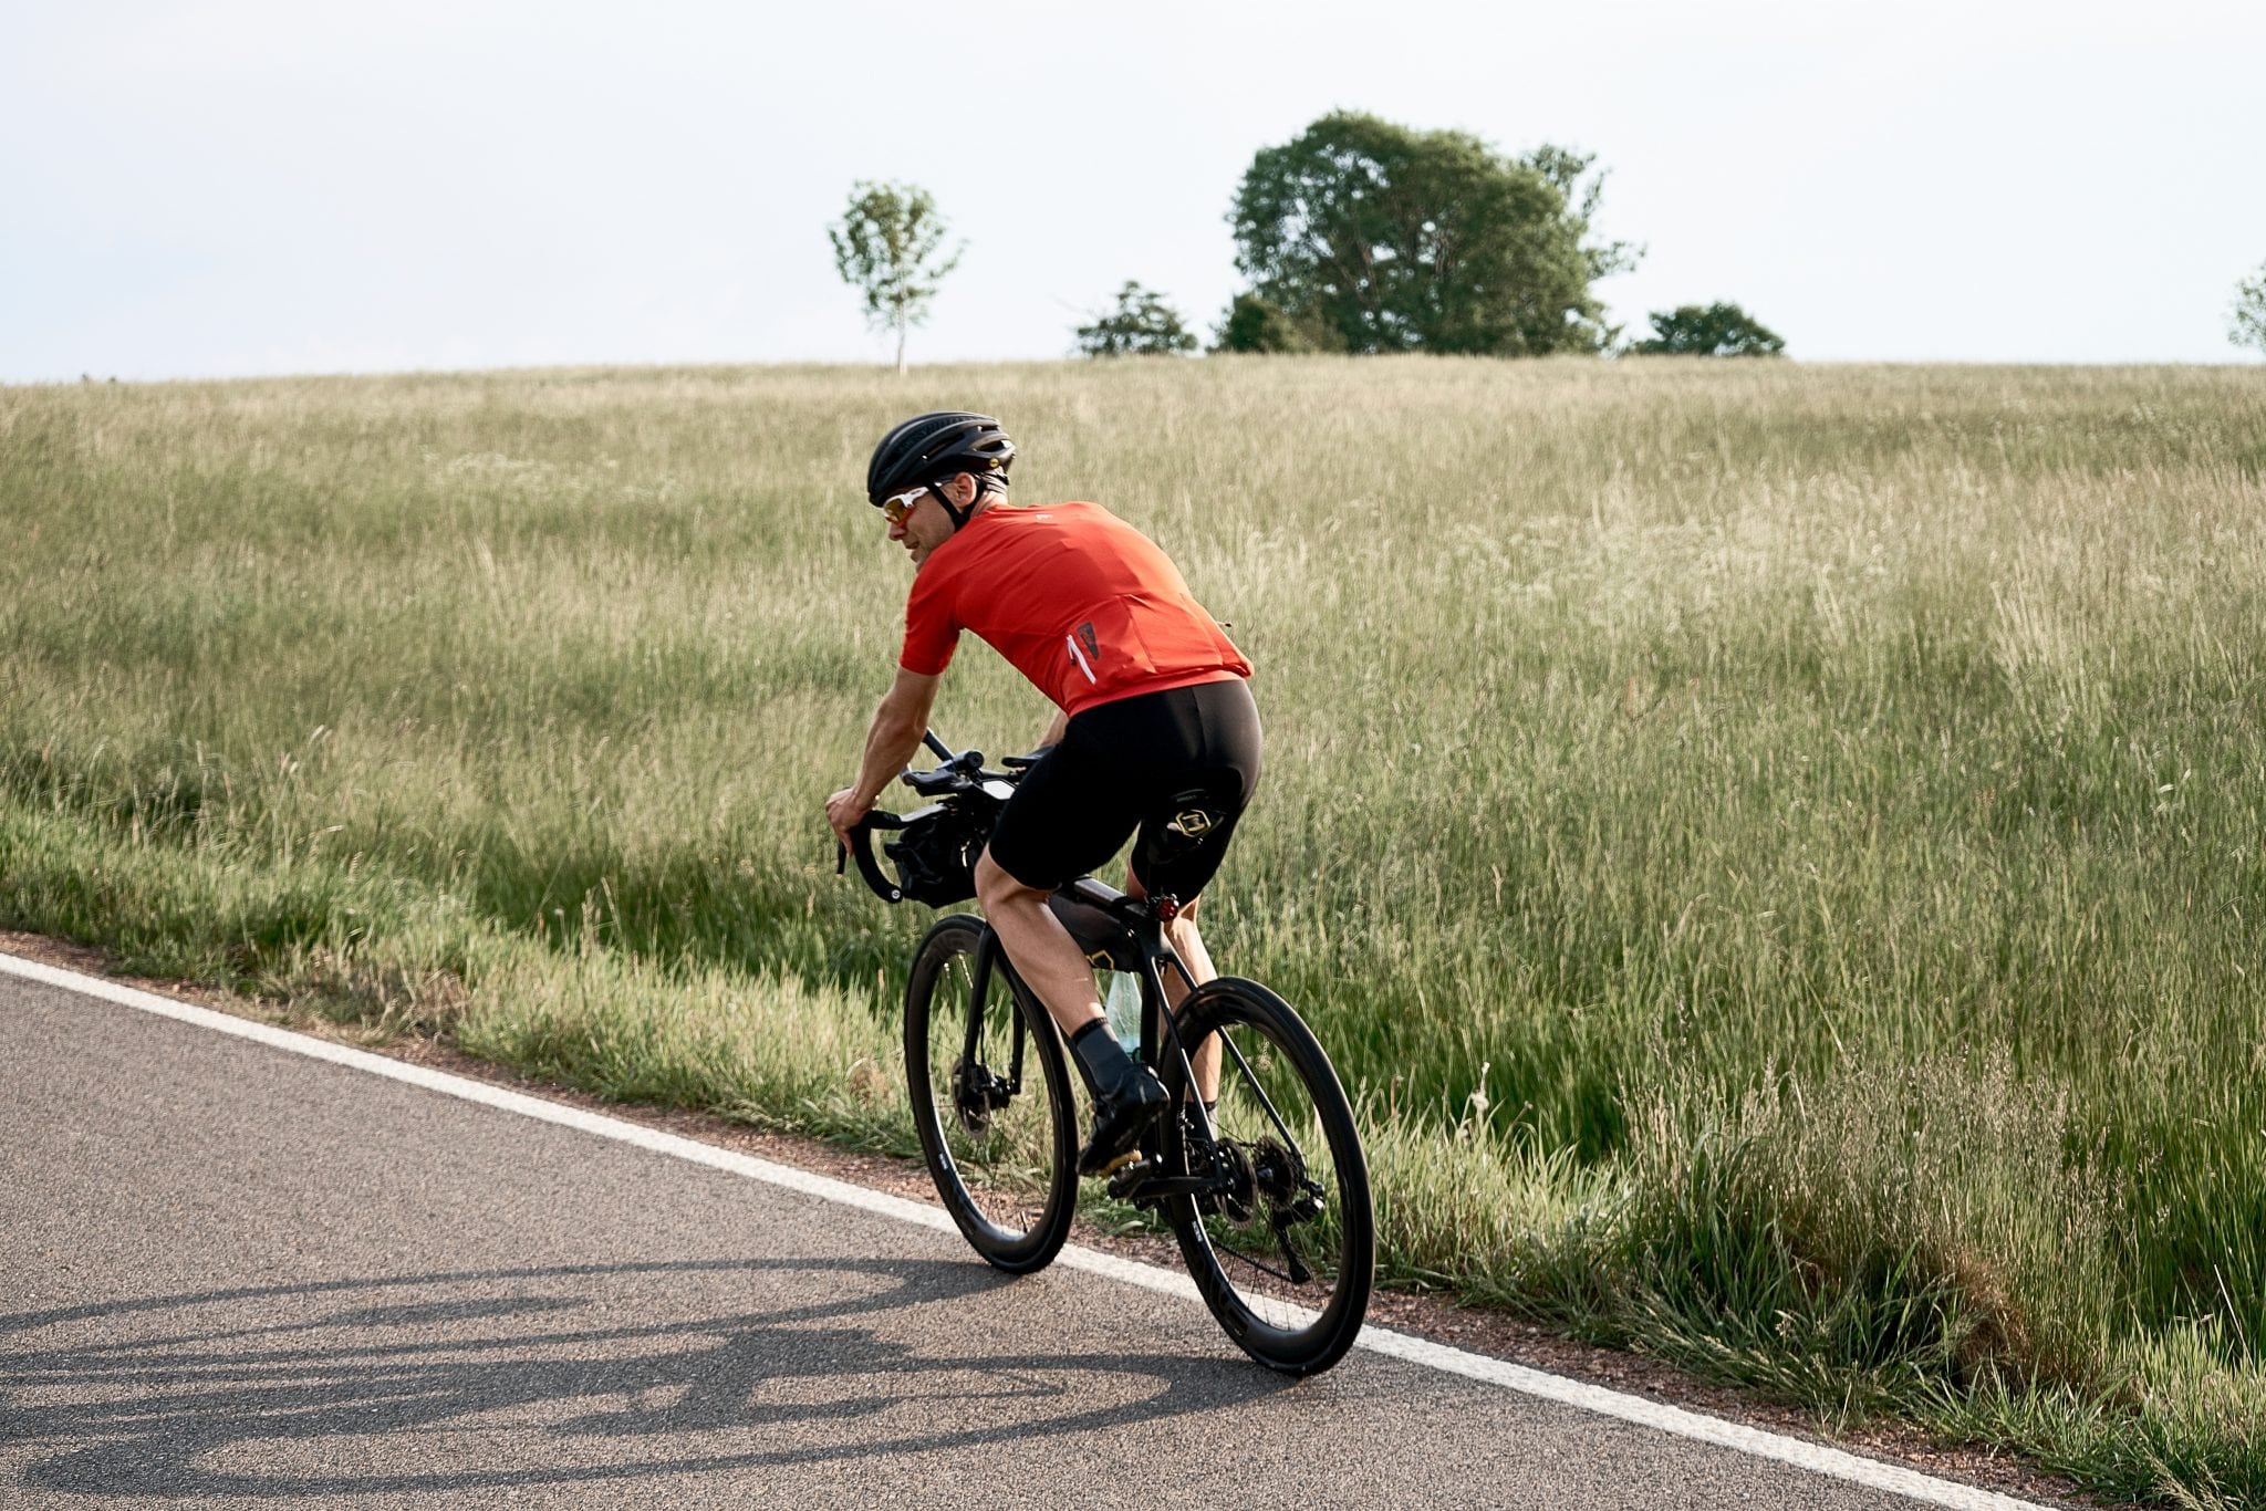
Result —
[[[795, 1303], [793, 1273], [854, 1294]], [[50, 1495], [605, 1484], [1079, 1434], [1287, 1384], [1138, 1334], [1020, 1348], [1047, 1303], [995, 1305], [1004, 1284], [972, 1262], [705, 1260], [23, 1312], [0, 1316], [0, 1454]]]

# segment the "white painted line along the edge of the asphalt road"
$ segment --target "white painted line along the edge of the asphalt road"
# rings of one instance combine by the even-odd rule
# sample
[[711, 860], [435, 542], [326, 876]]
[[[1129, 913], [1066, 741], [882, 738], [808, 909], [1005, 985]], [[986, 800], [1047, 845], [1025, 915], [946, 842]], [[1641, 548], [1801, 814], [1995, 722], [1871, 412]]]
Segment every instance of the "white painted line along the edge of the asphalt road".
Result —
[[[143, 992], [131, 985], [118, 985], [116, 981], [104, 981], [100, 976], [86, 976], [75, 970], [57, 970], [54, 965], [41, 965], [36, 961], [0, 954], [0, 974], [23, 976], [66, 992], [77, 992], [82, 997], [100, 997], [102, 1001], [113, 1001], [122, 1008], [156, 1013], [159, 1017], [197, 1024], [199, 1028], [213, 1028], [215, 1033], [233, 1033], [240, 1040], [286, 1049], [290, 1053], [308, 1056], [310, 1060], [329, 1060], [331, 1065], [369, 1072], [372, 1076], [406, 1081], [428, 1092], [440, 1092], [442, 1096], [458, 1096], [487, 1108], [519, 1112], [521, 1117], [560, 1124], [562, 1128], [576, 1128], [603, 1139], [637, 1144], [639, 1149], [650, 1149], [653, 1153], [671, 1155], [675, 1160], [691, 1160], [693, 1164], [707, 1164], [709, 1169], [730, 1171], [750, 1180], [764, 1180], [768, 1185], [786, 1187], [789, 1192], [802, 1192], [804, 1196], [841, 1203], [877, 1217], [891, 1217], [902, 1223], [918, 1223], [920, 1228], [934, 1228], [938, 1232], [956, 1232], [952, 1219], [945, 1217], [943, 1210], [906, 1201], [904, 1196], [870, 1192], [861, 1185], [850, 1185], [847, 1180], [813, 1176], [811, 1171], [795, 1169], [791, 1164], [777, 1164], [773, 1160], [759, 1160], [730, 1149], [716, 1149], [698, 1139], [662, 1133], [619, 1117], [585, 1112], [582, 1108], [569, 1108], [539, 1096], [528, 1096], [523, 1092], [510, 1092], [485, 1081], [469, 1081], [465, 1076], [451, 1076], [449, 1072], [428, 1069], [424, 1065], [387, 1060], [385, 1056], [369, 1053], [367, 1049], [331, 1044], [329, 1040], [317, 1040], [306, 1033], [292, 1033], [290, 1028], [276, 1028], [249, 1017], [231, 1017], [211, 1008]], [[1070, 1244], [1063, 1248], [1056, 1264], [1106, 1275], [1124, 1284], [1138, 1284], [1144, 1291], [1160, 1291], [1165, 1296], [1181, 1296], [1185, 1300], [1201, 1303], [1196, 1284], [1187, 1275], [1158, 1269], [1153, 1264], [1140, 1264], [1138, 1260], [1119, 1260], [1117, 1255]], [[1509, 1391], [1539, 1395], [1541, 1400], [1554, 1400], [1584, 1411], [1595, 1411], [1600, 1416], [1613, 1416], [1625, 1423], [1656, 1427], [1679, 1439], [1713, 1443], [1715, 1448], [1729, 1448], [1756, 1459], [1774, 1459], [1815, 1475], [1847, 1479], [1849, 1484], [1860, 1484], [1874, 1491], [1890, 1491], [1933, 1506], [1956, 1506], [1958, 1511], [2044, 1511], [2035, 1502], [1999, 1495], [1996, 1491], [1978, 1491], [1949, 1479], [1935, 1479], [1933, 1475], [1922, 1475], [1919, 1470], [1910, 1470], [1899, 1463], [1863, 1459], [1838, 1448], [1788, 1439], [1777, 1432], [1763, 1432], [1761, 1427], [1727, 1423], [1700, 1411], [1684, 1411], [1681, 1407], [1668, 1407], [1656, 1400], [1645, 1400], [1643, 1395], [1622, 1395], [1620, 1391], [1609, 1391], [1598, 1384], [1548, 1375], [1520, 1364], [1505, 1364], [1502, 1359], [1464, 1352], [1462, 1348], [1448, 1348], [1446, 1343], [1430, 1343], [1389, 1328], [1362, 1328], [1357, 1346], [1407, 1364], [1421, 1364], [1448, 1375], [1498, 1384]]]

